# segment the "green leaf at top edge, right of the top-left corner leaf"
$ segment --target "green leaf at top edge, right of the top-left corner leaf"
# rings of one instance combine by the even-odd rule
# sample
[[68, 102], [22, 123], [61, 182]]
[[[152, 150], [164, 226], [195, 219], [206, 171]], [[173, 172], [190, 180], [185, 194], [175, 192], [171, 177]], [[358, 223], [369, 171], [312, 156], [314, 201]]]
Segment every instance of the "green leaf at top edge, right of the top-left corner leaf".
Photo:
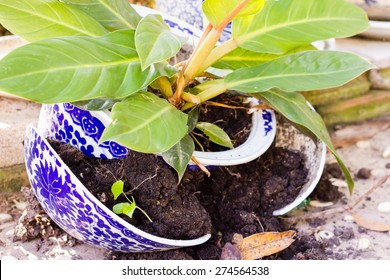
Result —
[[62, 0], [82, 10], [110, 31], [135, 29], [141, 16], [128, 0]]

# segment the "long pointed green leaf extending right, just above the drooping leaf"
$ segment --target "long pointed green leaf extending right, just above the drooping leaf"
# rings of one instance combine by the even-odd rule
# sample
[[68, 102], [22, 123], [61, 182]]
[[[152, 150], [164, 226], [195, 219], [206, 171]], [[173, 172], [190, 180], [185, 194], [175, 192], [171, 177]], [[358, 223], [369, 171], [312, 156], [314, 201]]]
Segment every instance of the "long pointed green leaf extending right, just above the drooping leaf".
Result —
[[271, 88], [304, 91], [337, 87], [374, 66], [351, 54], [307, 51], [236, 70], [226, 76], [228, 89], [263, 92]]

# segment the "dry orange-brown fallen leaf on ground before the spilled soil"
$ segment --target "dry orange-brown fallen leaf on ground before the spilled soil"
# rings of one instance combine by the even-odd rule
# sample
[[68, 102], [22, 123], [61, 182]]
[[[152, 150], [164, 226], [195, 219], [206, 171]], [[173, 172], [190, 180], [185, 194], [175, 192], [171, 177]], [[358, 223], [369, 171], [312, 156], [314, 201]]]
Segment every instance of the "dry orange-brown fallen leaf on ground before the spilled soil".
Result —
[[243, 260], [256, 260], [278, 253], [295, 240], [296, 232], [263, 232], [236, 240]]

